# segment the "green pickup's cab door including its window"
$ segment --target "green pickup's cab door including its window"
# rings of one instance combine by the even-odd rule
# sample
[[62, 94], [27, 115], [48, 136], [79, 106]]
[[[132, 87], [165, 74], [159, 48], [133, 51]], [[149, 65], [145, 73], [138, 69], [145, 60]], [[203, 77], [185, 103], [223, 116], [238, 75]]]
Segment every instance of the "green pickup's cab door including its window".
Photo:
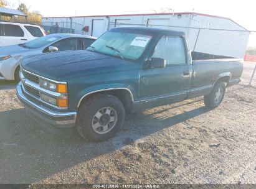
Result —
[[144, 104], [183, 101], [191, 85], [192, 65], [186, 58], [183, 37], [163, 35], [154, 48], [154, 58], [166, 60], [165, 68], [143, 68], [140, 99]]

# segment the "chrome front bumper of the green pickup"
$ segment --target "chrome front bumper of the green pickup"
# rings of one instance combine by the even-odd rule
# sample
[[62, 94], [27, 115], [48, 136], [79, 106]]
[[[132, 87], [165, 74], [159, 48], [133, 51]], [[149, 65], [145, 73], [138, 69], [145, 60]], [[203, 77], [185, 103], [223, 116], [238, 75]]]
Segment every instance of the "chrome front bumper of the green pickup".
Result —
[[75, 126], [77, 113], [75, 111], [59, 112], [42, 104], [32, 102], [22, 91], [21, 82], [16, 88], [17, 97], [24, 104], [28, 116], [39, 122], [46, 129], [70, 129]]

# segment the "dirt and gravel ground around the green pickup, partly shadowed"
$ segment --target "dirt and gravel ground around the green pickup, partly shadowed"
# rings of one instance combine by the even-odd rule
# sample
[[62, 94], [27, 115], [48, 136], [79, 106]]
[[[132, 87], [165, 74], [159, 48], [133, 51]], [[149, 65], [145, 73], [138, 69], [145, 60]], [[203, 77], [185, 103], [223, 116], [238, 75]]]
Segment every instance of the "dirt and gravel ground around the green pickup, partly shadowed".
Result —
[[256, 183], [254, 65], [218, 108], [196, 98], [130, 114], [100, 143], [44, 131], [1, 82], [0, 183]]

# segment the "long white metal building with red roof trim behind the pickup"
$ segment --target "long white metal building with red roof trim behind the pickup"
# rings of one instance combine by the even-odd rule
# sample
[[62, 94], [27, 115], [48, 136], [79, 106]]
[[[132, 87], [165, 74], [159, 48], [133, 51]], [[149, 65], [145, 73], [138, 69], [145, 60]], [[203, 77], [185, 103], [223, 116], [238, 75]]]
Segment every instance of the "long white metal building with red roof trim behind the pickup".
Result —
[[249, 30], [232, 19], [197, 12], [43, 17], [42, 25], [46, 30], [58, 27], [58, 32], [95, 37], [99, 37], [108, 29], [121, 26], [180, 30], [186, 32], [194, 51], [237, 58], [244, 58], [250, 35]]

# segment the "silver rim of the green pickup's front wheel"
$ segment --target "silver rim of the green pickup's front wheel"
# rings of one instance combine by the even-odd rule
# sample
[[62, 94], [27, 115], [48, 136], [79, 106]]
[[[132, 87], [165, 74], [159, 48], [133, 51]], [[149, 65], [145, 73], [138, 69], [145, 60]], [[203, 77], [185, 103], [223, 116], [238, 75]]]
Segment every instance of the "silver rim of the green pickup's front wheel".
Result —
[[115, 127], [117, 113], [115, 109], [105, 107], [97, 111], [92, 119], [92, 129], [98, 134], [106, 134]]

